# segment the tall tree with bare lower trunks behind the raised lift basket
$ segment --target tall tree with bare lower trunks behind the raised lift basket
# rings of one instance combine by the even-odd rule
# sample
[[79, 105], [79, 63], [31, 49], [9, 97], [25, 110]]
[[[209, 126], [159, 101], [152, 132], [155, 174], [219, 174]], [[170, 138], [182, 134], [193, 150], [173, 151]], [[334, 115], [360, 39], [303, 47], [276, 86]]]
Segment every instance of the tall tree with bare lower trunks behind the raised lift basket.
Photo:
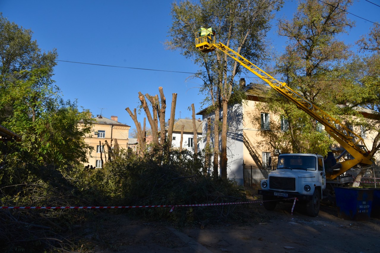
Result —
[[239, 63], [221, 51], [203, 54], [195, 48], [195, 35], [201, 26], [213, 27], [217, 38], [226, 46], [252, 62], [262, 62], [266, 52], [266, 32], [270, 28], [272, 11], [282, 1], [275, 0], [200, 0], [172, 4], [173, 23], [169, 28], [171, 40], [166, 45], [180, 50], [186, 58], [194, 59], [200, 70], [194, 77], [201, 79], [201, 93], [207, 94], [204, 104], [214, 111], [214, 174], [218, 174], [219, 116], [222, 109], [221, 176], [227, 178], [227, 105], [231, 96], [242, 98], [235, 76], [245, 71]]

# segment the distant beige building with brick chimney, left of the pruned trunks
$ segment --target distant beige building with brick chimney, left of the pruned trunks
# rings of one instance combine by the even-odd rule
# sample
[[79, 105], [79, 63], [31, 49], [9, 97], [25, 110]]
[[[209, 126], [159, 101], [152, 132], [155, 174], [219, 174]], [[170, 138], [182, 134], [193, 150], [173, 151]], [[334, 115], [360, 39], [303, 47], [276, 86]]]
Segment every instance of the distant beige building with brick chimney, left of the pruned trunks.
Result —
[[[88, 154], [89, 162], [84, 166], [93, 166], [93, 168], [102, 168], [103, 165], [109, 160], [108, 147], [111, 149], [115, 147], [115, 143], [119, 144], [120, 149], [128, 150], [130, 139], [128, 138], [130, 126], [117, 121], [117, 116], [111, 116], [111, 119], [97, 115], [92, 119], [93, 129], [91, 133], [86, 136], [85, 141], [94, 149]], [[80, 127], [80, 126], [79, 126]], [[135, 140], [131, 145], [135, 145]], [[103, 162], [102, 162], [103, 161]]]

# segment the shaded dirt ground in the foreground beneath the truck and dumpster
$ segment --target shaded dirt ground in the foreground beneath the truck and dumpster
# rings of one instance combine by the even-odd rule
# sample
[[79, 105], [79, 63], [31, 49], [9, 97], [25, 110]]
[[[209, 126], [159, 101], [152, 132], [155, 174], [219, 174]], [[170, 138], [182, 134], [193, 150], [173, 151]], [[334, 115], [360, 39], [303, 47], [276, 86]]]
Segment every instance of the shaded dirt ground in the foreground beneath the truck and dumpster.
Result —
[[321, 205], [318, 217], [308, 217], [301, 205], [291, 215], [290, 203], [267, 211], [260, 203], [247, 207], [244, 222], [208, 223], [174, 228], [165, 222], [131, 220], [106, 214], [82, 236], [87, 252], [380, 252], [380, 219], [351, 221], [337, 209]]

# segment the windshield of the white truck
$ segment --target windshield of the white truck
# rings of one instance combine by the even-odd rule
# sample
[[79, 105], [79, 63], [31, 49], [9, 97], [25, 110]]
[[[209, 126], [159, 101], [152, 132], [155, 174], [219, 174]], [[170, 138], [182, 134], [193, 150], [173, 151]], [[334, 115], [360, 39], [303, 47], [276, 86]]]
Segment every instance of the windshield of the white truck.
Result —
[[284, 155], [279, 157], [277, 169], [304, 169], [315, 171], [317, 160], [308, 155]]

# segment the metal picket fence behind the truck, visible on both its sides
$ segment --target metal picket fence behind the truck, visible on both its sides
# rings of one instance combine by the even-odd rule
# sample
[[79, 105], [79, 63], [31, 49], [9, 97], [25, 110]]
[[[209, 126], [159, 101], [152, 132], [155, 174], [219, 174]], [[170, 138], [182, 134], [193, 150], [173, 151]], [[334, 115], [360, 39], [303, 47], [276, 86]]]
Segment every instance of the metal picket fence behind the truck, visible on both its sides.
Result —
[[[261, 189], [260, 181], [267, 179], [269, 172], [275, 170], [275, 167], [263, 168], [255, 164], [244, 164], [244, 187], [252, 189]], [[345, 174], [353, 176], [352, 187], [360, 188], [380, 188], [380, 166], [368, 165], [362, 168], [349, 169]]]

